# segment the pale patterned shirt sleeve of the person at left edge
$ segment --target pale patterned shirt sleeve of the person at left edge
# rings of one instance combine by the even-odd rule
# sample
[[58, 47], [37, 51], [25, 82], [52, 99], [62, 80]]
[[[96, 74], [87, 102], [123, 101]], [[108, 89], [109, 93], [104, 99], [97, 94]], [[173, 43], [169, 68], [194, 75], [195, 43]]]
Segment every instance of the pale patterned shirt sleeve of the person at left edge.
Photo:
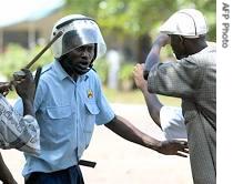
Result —
[[31, 115], [21, 116], [0, 94], [0, 149], [40, 153], [40, 129]]

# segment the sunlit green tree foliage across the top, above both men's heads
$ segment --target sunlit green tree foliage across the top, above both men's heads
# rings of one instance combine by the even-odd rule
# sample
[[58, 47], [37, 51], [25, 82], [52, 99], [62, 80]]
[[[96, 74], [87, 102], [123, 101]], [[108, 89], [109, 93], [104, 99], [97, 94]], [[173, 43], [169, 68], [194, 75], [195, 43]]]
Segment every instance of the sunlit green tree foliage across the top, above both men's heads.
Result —
[[67, 0], [67, 12], [95, 18], [104, 31], [143, 35], [158, 32], [163, 20], [182, 8], [201, 10], [210, 24], [210, 39], [216, 37], [216, 1], [213, 0]]

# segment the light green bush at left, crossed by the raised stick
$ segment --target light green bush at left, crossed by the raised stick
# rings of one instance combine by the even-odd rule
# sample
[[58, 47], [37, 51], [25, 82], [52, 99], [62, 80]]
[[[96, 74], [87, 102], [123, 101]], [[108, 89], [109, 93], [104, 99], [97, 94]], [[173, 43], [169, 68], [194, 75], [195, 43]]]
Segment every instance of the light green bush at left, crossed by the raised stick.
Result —
[[[24, 68], [40, 51], [42, 47], [36, 47], [32, 50], [23, 49], [18, 44], [9, 44], [6, 52], [0, 54], [1, 72], [11, 79], [13, 72]], [[44, 65], [52, 61], [52, 54], [47, 51], [32, 67], [31, 71], [36, 70], [39, 65]]]

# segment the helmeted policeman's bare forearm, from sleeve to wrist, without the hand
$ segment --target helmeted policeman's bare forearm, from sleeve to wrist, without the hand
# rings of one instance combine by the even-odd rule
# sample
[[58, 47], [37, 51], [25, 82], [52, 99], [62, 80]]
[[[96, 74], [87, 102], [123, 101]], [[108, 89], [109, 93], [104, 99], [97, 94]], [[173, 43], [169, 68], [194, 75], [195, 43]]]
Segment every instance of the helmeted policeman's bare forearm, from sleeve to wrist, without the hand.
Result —
[[144, 134], [133, 126], [128, 120], [119, 115], [116, 115], [110, 123], [105, 124], [105, 126], [121, 137], [149, 149], [156, 150], [156, 147], [161, 144], [160, 141]]

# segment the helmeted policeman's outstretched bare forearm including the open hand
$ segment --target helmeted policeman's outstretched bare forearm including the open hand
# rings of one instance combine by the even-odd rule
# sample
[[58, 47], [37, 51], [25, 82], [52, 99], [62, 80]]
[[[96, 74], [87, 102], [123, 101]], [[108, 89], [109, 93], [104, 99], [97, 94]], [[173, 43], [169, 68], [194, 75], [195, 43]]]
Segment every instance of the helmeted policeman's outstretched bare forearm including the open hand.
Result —
[[144, 147], [152, 149], [165, 155], [179, 155], [186, 157], [188, 144], [185, 141], [158, 141], [133, 126], [128, 120], [115, 115], [115, 117], [105, 124], [111, 131], [121, 137], [140, 144]]

